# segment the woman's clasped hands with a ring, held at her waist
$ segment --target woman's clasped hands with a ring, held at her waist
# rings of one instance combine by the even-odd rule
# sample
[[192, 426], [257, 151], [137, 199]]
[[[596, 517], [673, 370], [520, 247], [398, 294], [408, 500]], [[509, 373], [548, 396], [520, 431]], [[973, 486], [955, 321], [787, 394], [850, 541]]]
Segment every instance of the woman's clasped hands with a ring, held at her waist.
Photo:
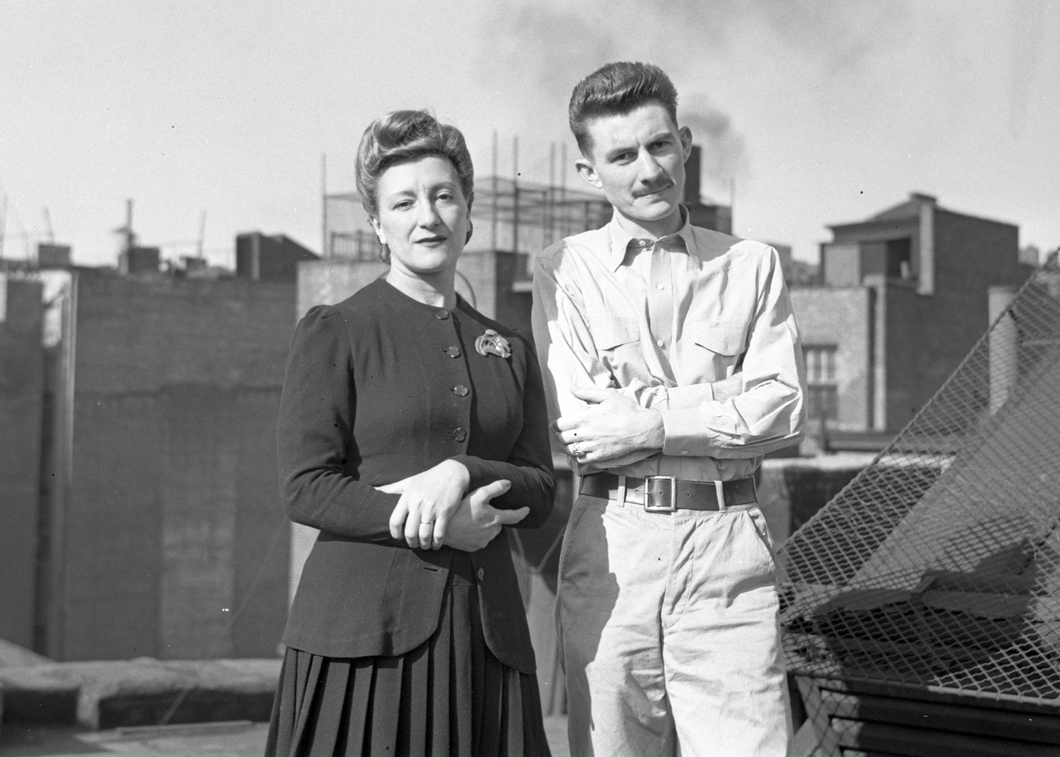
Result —
[[443, 460], [423, 473], [378, 487], [401, 494], [390, 515], [390, 535], [404, 538], [420, 549], [453, 547], [464, 552], [482, 549], [530, 512], [527, 507], [499, 510], [490, 503], [507, 492], [511, 482], [499, 479], [467, 491], [471, 476], [456, 460]]

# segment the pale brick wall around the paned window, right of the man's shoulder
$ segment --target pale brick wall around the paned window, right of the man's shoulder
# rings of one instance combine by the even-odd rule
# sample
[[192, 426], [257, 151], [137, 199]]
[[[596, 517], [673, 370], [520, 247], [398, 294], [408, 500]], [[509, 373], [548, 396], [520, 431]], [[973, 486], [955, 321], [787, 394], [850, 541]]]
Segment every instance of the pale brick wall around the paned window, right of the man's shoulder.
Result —
[[871, 428], [873, 294], [866, 287], [791, 289], [803, 345], [835, 345], [841, 430]]

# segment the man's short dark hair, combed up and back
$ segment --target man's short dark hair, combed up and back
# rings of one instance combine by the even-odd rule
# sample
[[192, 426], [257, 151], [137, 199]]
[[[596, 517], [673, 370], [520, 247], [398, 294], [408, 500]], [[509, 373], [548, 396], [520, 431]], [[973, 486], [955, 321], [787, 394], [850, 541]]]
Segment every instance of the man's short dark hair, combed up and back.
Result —
[[578, 148], [588, 156], [593, 147], [589, 123], [605, 116], [622, 116], [649, 102], [658, 102], [677, 124], [677, 90], [658, 66], [612, 63], [597, 69], [575, 87], [567, 118]]

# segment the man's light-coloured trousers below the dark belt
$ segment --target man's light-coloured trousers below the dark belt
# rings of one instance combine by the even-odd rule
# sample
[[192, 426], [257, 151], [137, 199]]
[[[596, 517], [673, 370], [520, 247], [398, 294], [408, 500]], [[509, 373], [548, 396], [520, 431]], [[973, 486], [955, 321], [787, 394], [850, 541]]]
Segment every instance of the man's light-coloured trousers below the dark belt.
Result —
[[579, 497], [558, 601], [572, 757], [783, 757], [778, 608], [757, 507]]

